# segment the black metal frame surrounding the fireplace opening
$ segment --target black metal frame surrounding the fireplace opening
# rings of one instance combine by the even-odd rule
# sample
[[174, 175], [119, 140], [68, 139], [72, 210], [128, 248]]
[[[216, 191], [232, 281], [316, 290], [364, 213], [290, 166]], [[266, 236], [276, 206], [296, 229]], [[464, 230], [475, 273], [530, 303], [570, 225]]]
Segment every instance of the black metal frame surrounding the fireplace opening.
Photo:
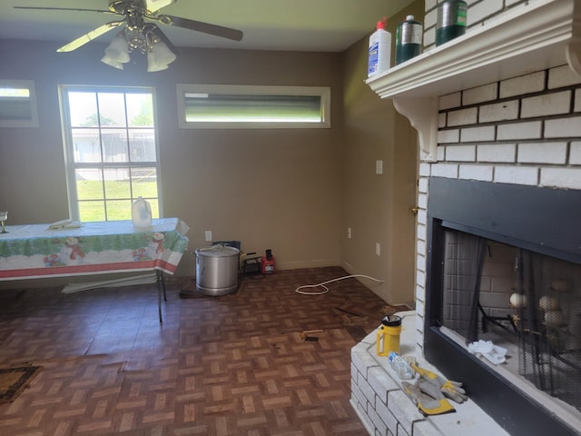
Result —
[[581, 191], [430, 177], [424, 353], [511, 435], [576, 435], [524, 391], [440, 331], [443, 229], [581, 264]]

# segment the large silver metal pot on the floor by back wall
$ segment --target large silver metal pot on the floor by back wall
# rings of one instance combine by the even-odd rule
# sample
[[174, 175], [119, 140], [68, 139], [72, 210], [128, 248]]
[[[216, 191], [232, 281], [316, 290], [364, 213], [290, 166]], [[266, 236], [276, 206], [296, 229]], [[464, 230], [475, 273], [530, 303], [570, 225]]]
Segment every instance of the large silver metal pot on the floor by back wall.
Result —
[[220, 296], [238, 289], [240, 250], [223, 245], [196, 250], [196, 290]]

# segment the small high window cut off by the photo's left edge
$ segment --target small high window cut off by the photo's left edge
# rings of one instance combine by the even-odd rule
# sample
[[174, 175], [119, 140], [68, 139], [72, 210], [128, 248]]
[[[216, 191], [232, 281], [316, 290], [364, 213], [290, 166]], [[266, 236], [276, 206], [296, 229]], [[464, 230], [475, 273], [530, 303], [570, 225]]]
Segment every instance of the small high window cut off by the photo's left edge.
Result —
[[38, 127], [32, 80], [0, 80], [0, 127]]

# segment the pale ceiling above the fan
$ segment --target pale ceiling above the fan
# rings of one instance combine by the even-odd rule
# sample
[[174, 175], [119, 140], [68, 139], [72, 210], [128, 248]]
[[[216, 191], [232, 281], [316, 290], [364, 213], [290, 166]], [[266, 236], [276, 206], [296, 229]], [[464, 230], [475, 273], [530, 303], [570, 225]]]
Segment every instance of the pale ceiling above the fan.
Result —
[[[341, 52], [368, 35], [384, 16], [414, 0], [179, 0], [161, 14], [223, 25], [244, 33], [240, 42], [159, 25], [178, 47]], [[49, 41], [55, 48], [116, 15], [76, 11], [36, 11], [13, 6], [101, 9], [107, 0], [0, 0], [0, 39]], [[109, 43], [115, 31], [96, 39]], [[0, 43], [1, 44], [1, 43]]]

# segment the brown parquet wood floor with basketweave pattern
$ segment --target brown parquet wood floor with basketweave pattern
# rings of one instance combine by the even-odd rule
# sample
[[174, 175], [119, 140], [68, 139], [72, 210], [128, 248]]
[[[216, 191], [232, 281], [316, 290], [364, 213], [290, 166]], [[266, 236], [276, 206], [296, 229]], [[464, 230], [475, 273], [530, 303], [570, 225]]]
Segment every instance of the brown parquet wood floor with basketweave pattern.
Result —
[[[276, 272], [222, 297], [169, 279], [162, 323], [154, 284], [0, 292], [0, 364], [44, 367], [0, 404], [0, 434], [367, 435], [350, 349], [396, 309], [353, 278], [294, 292], [345, 275]], [[309, 330], [318, 341], [303, 341]]]

